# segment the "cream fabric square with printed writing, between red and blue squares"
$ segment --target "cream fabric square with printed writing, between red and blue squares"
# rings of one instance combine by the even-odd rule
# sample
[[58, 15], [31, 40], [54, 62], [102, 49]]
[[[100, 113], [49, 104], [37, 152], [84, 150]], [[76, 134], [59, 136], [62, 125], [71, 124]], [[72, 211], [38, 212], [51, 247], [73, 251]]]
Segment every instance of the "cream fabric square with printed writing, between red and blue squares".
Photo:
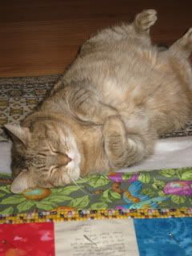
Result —
[[138, 256], [132, 219], [57, 222], [56, 256]]

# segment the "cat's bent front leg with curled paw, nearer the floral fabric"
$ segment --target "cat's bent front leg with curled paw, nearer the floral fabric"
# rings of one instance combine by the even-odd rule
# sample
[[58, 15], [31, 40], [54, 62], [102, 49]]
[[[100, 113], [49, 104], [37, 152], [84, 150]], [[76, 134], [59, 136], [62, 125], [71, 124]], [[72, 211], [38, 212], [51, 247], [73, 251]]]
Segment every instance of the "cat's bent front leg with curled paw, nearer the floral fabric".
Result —
[[153, 140], [142, 134], [127, 134], [126, 126], [118, 116], [108, 118], [102, 130], [104, 149], [114, 169], [131, 166], [152, 154]]

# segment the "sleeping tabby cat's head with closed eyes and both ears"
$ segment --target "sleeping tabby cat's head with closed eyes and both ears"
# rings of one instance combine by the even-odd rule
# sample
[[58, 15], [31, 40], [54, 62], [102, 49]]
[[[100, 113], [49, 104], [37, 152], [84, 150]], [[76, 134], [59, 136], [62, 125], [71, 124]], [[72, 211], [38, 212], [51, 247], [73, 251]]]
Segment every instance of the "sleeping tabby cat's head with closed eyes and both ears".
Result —
[[10, 190], [63, 186], [80, 177], [81, 154], [66, 123], [46, 119], [33, 126], [6, 125], [13, 138]]

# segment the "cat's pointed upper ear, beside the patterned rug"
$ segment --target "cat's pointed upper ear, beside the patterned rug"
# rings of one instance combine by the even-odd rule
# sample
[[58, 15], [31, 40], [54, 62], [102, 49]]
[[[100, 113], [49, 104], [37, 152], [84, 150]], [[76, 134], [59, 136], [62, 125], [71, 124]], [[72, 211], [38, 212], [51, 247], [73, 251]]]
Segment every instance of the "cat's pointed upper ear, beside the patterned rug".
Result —
[[30, 129], [28, 127], [5, 125], [4, 126], [14, 141], [26, 145], [30, 140]]

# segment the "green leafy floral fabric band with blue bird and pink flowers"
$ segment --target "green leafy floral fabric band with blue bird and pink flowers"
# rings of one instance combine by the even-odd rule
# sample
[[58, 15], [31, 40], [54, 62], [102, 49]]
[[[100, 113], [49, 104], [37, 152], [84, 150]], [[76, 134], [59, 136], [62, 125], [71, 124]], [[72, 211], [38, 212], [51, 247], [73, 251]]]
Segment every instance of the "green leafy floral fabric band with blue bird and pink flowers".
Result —
[[0, 214], [54, 210], [137, 210], [192, 207], [192, 168], [94, 174], [77, 185], [10, 192], [10, 177], [1, 175]]

